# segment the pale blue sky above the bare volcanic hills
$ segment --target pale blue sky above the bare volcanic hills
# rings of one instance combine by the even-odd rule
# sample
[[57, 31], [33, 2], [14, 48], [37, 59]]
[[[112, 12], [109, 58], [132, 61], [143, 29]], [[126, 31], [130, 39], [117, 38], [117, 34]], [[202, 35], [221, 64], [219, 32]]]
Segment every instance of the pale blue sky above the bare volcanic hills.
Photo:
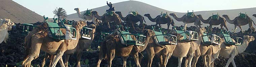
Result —
[[[106, 1], [118, 3], [128, 0], [13, 0], [22, 6], [50, 18], [53, 10], [62, 7], [67, 14], [76, 13], [74, 8], [93, 9], [106, 5]], [[135, 0], [174, 12], [227, 10], [256, 7], [256, 0]], [[114, 5], [115, 6], [115, 5]]]

